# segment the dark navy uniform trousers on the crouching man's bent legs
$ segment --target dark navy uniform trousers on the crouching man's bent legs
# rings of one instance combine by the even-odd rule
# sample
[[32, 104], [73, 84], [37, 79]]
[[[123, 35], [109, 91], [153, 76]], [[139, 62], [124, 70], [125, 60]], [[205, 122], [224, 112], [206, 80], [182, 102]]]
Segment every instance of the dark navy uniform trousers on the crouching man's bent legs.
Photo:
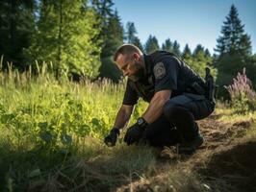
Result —
[[141, 140], [155, 147], [190, 142], [198, 135], [196, 120], [209, 116], [215, 108], [204, 95], [184, 93], [170, 98], [163, 114], [148, 125]]

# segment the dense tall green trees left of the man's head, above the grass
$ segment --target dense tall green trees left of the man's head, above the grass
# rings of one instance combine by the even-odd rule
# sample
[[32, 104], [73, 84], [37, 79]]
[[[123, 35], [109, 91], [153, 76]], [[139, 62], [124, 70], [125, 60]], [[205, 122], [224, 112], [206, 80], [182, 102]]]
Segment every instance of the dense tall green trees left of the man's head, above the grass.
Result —
[[95, 79], [123, 42], [112, 0], [0, 2], [0, 54], [19, 70], [46, 62], [59, 78]]

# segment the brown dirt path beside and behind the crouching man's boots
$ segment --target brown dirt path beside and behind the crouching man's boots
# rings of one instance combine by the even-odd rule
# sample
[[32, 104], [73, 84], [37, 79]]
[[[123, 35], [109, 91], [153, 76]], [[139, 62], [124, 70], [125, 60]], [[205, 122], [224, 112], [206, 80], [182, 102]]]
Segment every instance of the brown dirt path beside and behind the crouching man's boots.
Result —
[[[256, 191], [256, 139], [248, 136], [255, 120], [199, 121], [204, 144], [192, 156], [159, 153], [153, 178], [136, 180], [117, 191]], [[166, 171], [169, 170], [169, 171]]]

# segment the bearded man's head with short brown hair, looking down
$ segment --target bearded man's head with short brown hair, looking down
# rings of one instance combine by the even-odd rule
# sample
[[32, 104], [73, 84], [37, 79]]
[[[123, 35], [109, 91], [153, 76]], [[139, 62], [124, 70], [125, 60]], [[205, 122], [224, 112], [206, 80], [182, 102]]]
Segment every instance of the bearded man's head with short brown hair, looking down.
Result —
[[143, 54], [137, 46], [123, 44], [116, 50], [114, 60], [123, 75], [128, 76], [132, 81], [137, 82], [143, 77]]

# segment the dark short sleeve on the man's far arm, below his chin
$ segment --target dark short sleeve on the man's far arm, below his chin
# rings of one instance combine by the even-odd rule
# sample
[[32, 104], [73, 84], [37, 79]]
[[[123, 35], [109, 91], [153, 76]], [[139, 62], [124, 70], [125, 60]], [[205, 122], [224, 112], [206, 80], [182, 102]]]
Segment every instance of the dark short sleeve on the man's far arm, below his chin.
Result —
[[136, 92], [136, 90], [134, 90], [130, 81], [128, 80], [126, 84], [126, 89], [123, 96], [122, 104], [127, 106], [134, 106], [138, 103], [138, 100], [139, 100], [139, 95]]

